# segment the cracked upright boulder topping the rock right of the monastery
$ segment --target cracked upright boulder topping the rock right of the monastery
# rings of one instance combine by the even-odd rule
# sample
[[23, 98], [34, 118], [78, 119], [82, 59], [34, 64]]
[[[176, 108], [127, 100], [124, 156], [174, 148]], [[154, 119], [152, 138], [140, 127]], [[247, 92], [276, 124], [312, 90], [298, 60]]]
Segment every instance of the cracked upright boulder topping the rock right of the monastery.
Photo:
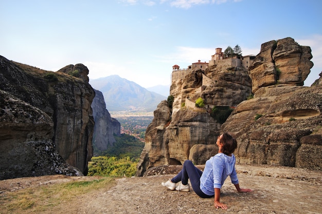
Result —
[[260, 53], [249, 66], [253, 93], [260, 87], [288, 84], [303, 86], [313, 67], [311, 48], [298, 45], [293, 38], [262, 44]]

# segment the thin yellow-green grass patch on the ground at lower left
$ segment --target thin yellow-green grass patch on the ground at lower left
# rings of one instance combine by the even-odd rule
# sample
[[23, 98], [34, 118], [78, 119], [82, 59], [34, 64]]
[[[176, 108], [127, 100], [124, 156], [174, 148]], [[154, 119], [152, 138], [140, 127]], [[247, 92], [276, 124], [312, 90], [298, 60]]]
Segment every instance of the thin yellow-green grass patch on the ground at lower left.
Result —
[[115, 179], [102, 177], [93, 181], [74, 181], [41, 187], [30, 187], [0, 195], [0, 213], [41, 213], [52, 207], [70, 203], [86, 193], [109, 189]]

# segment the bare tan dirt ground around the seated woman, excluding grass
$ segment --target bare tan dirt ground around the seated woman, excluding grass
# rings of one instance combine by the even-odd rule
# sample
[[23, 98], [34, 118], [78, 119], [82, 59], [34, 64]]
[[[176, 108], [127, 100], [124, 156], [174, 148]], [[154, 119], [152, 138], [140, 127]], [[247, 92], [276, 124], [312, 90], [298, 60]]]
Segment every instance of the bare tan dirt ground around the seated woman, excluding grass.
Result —
[[[201, 199], [192, 188], [179, 192], [163, 187], [161, 182], [173, 177], [163, 174], [120, 178], [112, 188], [84, 194], [44, 213], [322, 213], [321, 171], [265, 165], [236, 165], [236, 170], [240, 186], [254, 191], [238, 193], [228, 177], [221, 194], [226, 210], [214, 208], [213, 198]], [[56, 175], [3, 180], [0, 200], [7, 191], [94, 179]]]

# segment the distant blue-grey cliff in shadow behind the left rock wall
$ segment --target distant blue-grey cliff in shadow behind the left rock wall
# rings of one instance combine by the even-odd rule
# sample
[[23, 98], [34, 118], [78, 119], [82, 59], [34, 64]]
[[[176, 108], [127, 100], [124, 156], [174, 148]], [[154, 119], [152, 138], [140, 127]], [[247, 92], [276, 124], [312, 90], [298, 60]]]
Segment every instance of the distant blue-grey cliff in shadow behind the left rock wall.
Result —
[[121, 134], [121, 124], [106, 109], [102, 92], [95, 90], [95, 98], [92, 102], [93, 117], [95, 121], [93, 145], [98, 150], [106, 150], [116, 142], [114, 135]]

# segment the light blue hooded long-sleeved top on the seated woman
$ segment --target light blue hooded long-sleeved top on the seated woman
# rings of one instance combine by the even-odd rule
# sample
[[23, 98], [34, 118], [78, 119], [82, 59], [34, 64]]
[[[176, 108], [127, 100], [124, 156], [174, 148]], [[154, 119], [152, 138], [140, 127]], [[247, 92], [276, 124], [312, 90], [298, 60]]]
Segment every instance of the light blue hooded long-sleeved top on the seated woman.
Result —
[[228, 176], [230, 176], [232, 184], [238, 184], [235, 162], [234, 154], [228, 156], [224, 153], [218, 153], [211, 157], [206, 161], [205, 169], [200, 178], [200, 189], [208, 196], [213, 196], [213, 188], [221, 188]]

